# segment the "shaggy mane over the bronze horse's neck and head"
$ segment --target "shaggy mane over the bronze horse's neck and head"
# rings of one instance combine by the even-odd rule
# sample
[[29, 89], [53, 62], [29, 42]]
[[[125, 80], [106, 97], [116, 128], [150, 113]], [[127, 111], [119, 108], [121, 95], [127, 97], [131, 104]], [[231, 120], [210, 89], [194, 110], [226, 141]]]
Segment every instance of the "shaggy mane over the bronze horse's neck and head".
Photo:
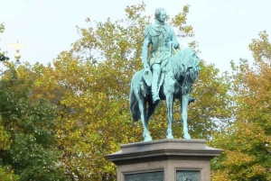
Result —
[[198, 72], [200, 59], [196, 55], [196, 52], [191, 48], [184, 48], [179, 50], [171, 59], [172, 71], [174, 77], [178, 78], [183, 76], [188, 68], [192, 72]]

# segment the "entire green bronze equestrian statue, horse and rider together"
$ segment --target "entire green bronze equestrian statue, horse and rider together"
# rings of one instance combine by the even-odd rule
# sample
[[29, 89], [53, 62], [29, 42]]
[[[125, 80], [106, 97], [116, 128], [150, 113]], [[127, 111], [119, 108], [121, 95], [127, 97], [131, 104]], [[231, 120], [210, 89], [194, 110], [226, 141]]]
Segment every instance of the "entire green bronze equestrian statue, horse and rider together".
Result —
[[160, 99], [165, 100], [167, 105], [167, 139], [173, 139], [173, 101], [176, 98], [182, 104], [183, 137], [191, 139], [187, 127], [187, 107], [194, 101], [190, 92], [194, 80], [199, 76], [200, 59], [191, 48], [176, 50], [179, 43], [173, 29], [164, 23], [165, 18], [164, 8], [155, 11], [155, 23], [145, 30], [142, 48], [144, 69], [135, 73], [131, 83], [130, 110], [134, 121], [141, 119], [143, 123], [145, 141], [152, 140], [148, 122]]

